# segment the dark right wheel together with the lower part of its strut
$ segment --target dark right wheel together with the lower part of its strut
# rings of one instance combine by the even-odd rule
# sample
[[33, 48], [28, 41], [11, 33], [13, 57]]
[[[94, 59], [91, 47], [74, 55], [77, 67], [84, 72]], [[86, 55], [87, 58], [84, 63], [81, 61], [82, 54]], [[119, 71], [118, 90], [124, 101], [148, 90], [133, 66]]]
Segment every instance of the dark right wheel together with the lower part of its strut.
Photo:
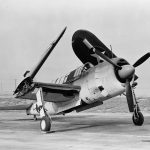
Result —
[[134, 125], [136, 125], [136, 126], [142, 126], [143, 123], [144, 123], [144, 116], [140, 112], [138, 105], [135, 106], [133, 116], [132, 116], [132, 120], [133, 120]]

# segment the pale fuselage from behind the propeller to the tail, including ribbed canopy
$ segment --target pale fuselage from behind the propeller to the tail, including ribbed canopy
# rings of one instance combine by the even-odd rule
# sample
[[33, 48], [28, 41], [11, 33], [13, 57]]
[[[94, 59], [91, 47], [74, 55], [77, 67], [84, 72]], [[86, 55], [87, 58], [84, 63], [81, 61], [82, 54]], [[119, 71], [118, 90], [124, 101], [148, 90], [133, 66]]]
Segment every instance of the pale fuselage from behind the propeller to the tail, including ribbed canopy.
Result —
[[[114, 58], [114, 61], [118, 61], [118, 58]], [[53, 83], [78, 85], [81, 90], [79, 95], [76, 95], [71, 101], [61, 103], [45, 102], [45, 108], [49, 114], [58, 114], [76, 108], [82, 105], [82, 102], [88, 105], [98, 101], [103, 102], [121, 95], [125, 91], [123, 83], [116, 77], [114, 67], [106, 61], [102, 61], [96, 66], [86, 63], [69, 74], [57, 78]], [[36, 107], [37, 105], [34, 103], [27, 110], [27, 114], [38, 115]]]

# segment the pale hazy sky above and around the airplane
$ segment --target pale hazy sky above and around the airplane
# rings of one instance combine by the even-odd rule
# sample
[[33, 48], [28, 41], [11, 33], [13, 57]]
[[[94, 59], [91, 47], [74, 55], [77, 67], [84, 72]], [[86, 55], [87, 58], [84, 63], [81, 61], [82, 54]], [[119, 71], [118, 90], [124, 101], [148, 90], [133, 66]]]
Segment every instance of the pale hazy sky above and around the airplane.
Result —
[[[149, 6], [149, 0], [0, 0], [0, 81], [19, 83], [65, 26], [37, 81], [50, 82], [82, 65], [71, 45], [78, 29], [93, 32], [133, 64], [150, 51]], [[149, 66], [148, 60], [136, 68], [138, 95], [150, 96]]]

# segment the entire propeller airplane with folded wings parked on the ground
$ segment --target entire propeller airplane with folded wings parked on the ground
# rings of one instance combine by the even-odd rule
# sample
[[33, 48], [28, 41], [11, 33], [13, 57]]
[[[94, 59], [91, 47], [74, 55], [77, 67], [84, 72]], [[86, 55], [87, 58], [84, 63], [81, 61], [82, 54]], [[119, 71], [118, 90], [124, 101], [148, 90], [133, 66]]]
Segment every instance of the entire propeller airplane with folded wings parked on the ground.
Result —
[[124, 58], [117, 57], [90, 31], [77, 30], [72, 37], [72, 48], [83, 65], [53, 82], [35, 81], [36, 74], [66, 28], [51, 43], [36, 66], [24, 73], [23, 81], [14, 91], [15, 98], [35, 102], [26, 106], [0, 107], [0, 110], [26, 110], [27, 115], [33, 115], [35, 120], [36, 116], [40, 116], [41, 131], [50, 132], [51, 115], [81, 112], [123, 94], [126, 96], [129, 111], [133, 113], [134, 125], [142, 126], [144, 116], [134, 92], [138, 79], [135, 68], [150, 57], [149, 52], [131, 65]]

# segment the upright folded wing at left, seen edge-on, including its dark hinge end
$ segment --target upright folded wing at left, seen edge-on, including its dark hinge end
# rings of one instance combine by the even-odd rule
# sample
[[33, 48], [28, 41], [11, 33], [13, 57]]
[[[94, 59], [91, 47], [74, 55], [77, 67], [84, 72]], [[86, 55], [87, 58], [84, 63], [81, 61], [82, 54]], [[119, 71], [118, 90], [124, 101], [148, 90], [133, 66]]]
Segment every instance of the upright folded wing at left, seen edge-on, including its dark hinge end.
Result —
[[62, 30], [62, 32], [59, 34], [59, 36], [56, 38], [56, 40], [54, 40], [51, 43], [50, 47], [45, 51], [44, 55], [42, 56], [40, 61], [37, 63], [37, 65], [32, 69], [32, 71], [25, 72], [24, 77], [26, 77], [27, 74], [28, 74], [28, 76], [18, 85], [18, 87], [14, 91], [14, 94], [16, 94], [16, 93], [24, 94], [29, 90], [29, 88], [31, 88], [33, 78], [36, 76], [36, 74], [38, 73], [38, 71], [40, 70], [40, 68], [42, 67], [42, 65], [44, 64], [46, 59], [48, 58], [48, 56], [51, 54], [51, 52], [53, 51], [53, 49], [55, 48], [55, 46], [57, 45], [59, 40], [62, 38], [66, 29], [67, 29], [67, 27], [65, 27]]

